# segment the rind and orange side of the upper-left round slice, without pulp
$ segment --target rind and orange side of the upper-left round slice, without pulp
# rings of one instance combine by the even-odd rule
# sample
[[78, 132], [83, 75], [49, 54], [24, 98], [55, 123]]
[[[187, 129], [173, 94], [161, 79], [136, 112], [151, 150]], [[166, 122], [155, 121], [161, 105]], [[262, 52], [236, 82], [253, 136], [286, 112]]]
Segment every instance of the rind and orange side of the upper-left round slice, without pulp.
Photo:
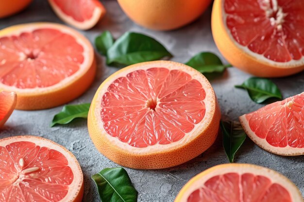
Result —
[[17, 93], [16, 109], [47, 109], [67, 103], [84, 93], [95, 77], [96, 61], [93, 47], [83, 35], [67, 26], [44, 22], [20, 24], [1, 30], [0, 37], [17, 35], [24, 31], [33, 31], [41, 28], [58, 29], [61, 32], [74, 36], [77, 43], [84, 48], [84, 62], [75, 74], [49, 87], [19, 89], [15, 86], [7, 86], [0, 83], [0, 91], [13, 91]]

